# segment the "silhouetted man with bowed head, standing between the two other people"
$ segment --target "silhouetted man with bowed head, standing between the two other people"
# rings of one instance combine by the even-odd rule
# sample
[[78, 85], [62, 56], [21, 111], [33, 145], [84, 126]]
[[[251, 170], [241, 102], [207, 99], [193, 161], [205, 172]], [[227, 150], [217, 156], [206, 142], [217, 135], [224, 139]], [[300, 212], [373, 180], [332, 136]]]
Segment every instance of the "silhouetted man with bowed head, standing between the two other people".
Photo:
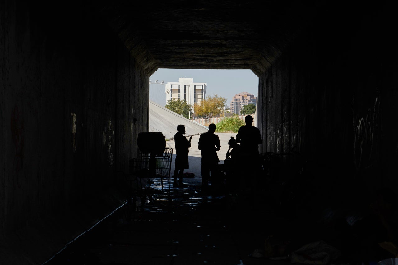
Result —
[[[220, 150], [220, 138], [216, 131], [216, 125], [211, 123], [209, 125], [209, 131], [203, 133], [199, 136], [198, 148], [201, 150], [202, 154], [202, 191], [207, 191], [207, 185], [209, 184], [209, 178], [212, 177], [212, 185], [217, 182], [218, 176], [218, 166], [219, 157], [217, 156], [217, 151]], [[216, 184], [217, 185], [217, 184]]]

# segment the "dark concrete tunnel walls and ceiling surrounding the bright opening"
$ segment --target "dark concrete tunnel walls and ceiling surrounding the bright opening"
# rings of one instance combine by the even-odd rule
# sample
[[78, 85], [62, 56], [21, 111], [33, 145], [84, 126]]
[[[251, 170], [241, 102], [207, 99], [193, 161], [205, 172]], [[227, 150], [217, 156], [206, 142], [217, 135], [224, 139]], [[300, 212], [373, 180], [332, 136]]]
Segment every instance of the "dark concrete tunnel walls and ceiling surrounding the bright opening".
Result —
[[[260, 152], [335, 208], [397, 187], [390, 1], [0, 1], [1, 264], [41, 264], [123, 207], [159, 68], [250, 69]], [[396, 197], [395, 197], [396, 198]]]

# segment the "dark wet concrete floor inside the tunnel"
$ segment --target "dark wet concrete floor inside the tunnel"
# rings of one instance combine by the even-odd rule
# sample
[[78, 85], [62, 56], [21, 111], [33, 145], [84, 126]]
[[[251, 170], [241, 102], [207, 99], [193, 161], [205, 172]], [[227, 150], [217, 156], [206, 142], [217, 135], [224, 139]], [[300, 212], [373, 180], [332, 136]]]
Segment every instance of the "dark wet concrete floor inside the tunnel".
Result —
[[[252, 257], [277, 219], [264, 216], [252, 195], [212, 192], [203, 195], [201, 179], [168, 190], [137, 211], [127, 207], [103, 220], [46, 264], [257, 265], [286, 264]], [[161, 191], [159, 179], [151, 185]], [[169, 200], [171, 199], [171, 201]]]

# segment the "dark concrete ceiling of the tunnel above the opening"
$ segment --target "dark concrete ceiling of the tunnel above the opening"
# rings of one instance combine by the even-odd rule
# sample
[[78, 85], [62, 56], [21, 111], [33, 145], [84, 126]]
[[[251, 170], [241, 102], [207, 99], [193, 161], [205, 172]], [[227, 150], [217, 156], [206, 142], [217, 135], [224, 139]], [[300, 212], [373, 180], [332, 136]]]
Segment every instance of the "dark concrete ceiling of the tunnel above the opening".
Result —
[[132, 55], [158, 68], [263, 73], [322, 10], [300, 1], [109, 1], [99, 12]]

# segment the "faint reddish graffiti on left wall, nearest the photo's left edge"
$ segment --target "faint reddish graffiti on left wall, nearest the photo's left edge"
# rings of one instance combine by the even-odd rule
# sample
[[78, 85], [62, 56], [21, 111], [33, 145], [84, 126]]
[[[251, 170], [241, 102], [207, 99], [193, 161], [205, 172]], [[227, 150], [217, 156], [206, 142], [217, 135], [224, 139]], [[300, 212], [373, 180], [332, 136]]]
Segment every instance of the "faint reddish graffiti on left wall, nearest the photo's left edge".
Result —
[[14, 105], [14, 109], [11, 112], [10, 119], [11, 138], [15, 146], [15, 156], [12, 166], [12, 181], [14, 189], [16, 189], [17, 186], [18, 188], [21, 187], [21, 171], [23, 168], [24, 122], [21, 108], [18, 107], [18, 105], [18, 103]]

